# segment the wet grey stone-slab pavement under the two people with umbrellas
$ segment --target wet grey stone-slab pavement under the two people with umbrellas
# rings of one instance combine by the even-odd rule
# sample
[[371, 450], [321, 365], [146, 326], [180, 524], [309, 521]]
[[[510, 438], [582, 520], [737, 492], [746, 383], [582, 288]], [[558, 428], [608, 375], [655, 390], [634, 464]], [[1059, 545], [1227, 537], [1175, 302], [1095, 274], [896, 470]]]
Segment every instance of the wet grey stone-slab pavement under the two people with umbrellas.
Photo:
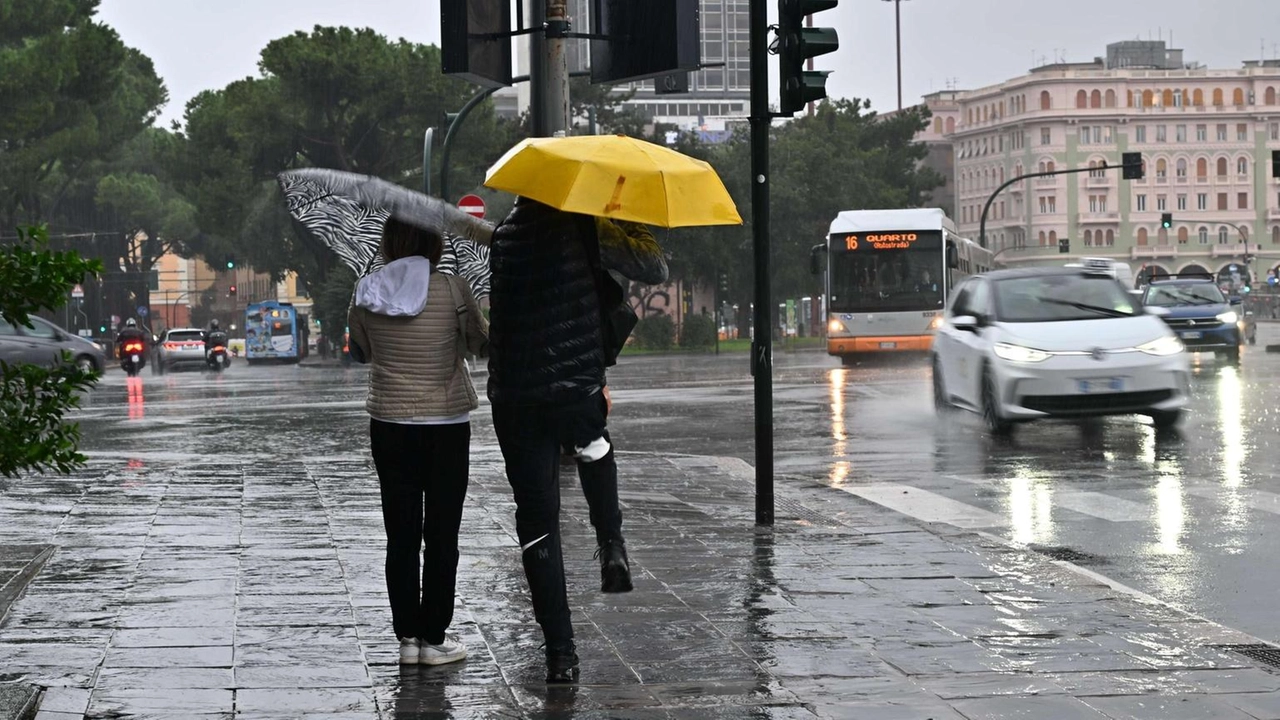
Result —
[[96, 454], [0, 492], [0, 546], [56, 546], [0, 625], [0, 680], [46, 688], [42, 720], [1280, 717], [1280, 675], [1213, 647], [1253, 638], [817, 483], [780, 479], [756, 529], [744, 461], [655, 452], [620, 457], [628, 594], [599, 592], [563, 469], [582, 676], [548, 687], [475, 423], [467, 661], [397, 665], [367, 454]]

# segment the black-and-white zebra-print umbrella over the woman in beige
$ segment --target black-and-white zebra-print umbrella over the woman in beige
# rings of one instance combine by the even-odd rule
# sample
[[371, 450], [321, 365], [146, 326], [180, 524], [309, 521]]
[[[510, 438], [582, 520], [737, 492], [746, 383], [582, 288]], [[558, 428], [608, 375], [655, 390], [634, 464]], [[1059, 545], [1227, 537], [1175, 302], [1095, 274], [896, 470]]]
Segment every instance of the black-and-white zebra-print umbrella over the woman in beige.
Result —
[[370, 176], [307, 168], [276, 176], [293, 222], [358, 275], [381, 266], [389, 215], [445, 237], [440, 272], [461, 275], [479, 299], [489, 295], [493, 225], [448, 202]]

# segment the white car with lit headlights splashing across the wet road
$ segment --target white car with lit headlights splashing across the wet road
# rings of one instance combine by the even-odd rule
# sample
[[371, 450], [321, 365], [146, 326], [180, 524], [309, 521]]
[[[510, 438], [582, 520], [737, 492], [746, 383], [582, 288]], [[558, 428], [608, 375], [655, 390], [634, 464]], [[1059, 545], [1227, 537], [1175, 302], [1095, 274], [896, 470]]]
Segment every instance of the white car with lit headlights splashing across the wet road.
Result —
[[992, 433], [1041, 418], [1149, 415], [1178, 423], [1190, 356], [1106, 273], [1027, 268], [968, 278], [933, 338], [933, 397]]

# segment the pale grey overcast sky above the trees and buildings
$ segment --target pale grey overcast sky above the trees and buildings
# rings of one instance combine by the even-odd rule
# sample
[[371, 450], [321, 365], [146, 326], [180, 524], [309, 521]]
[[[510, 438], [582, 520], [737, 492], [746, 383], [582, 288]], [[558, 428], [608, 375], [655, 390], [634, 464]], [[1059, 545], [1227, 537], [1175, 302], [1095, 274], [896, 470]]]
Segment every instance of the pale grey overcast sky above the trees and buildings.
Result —
[[[439, 3], [102, 0], [100, 19], [155, 61], [169, 88], [166, 126], [200, 91], [257, 74], [262, 46], [298, 29], [346, 24], [439, 44]], [[772, 18], [776, 3], [768, 5]], [[982, 87], [1055, 58], [1089, 60], [1117, 40], [1172, 33], [1187, 60], [1212, 68], [1275, 58], [1280, 47], [1280, 0], [902, 0], [901, 10], [908, 105], [948, 83]], [[841, 0], [817, 18], [840, 31], [840, 50], [817, 60], [833, 70], [831, 94], [869, 97], [878, 110], [896, 108], [893, 3]]]

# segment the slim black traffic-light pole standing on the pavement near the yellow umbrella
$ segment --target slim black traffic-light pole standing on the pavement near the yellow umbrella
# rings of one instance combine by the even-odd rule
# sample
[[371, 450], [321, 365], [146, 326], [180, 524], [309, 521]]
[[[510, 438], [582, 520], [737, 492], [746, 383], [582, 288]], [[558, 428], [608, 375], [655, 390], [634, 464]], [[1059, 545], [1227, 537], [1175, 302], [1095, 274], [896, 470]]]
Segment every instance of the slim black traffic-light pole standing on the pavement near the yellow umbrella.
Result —
[[755, 379], [755, 524], [773, 524], [773, 325], [769, 314], [769, 14], [750, 0], [751, 54], [751, 246], [755, 316], [751, 375]]

